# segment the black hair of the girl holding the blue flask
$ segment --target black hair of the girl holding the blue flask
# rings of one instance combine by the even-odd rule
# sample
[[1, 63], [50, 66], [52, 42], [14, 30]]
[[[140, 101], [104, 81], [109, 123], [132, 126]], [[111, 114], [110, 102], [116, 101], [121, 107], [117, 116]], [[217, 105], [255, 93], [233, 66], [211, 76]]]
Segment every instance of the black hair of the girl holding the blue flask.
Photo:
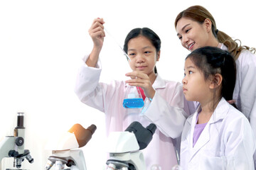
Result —
[[[161, 40], [159, 36], [154, 33], [153, 30], [149, 28], [134, 28], [128, 33], [127, 37], [124, 40], [124, 52], [127, 53], [128, 51], [129, 40], [131, 40], [132, 38], [137, 38], [139, 35], [142, 35], [151, 41], [154, 47], [156, 47], [156, 53], [160, 51]], [[154, 72], [157, 73], [156, 67], [154, 68]]]

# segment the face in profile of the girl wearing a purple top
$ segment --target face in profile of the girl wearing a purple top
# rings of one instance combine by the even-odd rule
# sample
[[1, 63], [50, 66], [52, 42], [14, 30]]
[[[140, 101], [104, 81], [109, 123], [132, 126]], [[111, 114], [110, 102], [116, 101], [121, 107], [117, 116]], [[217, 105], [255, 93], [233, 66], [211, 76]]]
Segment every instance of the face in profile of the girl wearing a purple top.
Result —
[[188, 101], [208, 101], [210, 98], [210, 80], [193, 64], [190, 58], [185, 61], [183, 94]]

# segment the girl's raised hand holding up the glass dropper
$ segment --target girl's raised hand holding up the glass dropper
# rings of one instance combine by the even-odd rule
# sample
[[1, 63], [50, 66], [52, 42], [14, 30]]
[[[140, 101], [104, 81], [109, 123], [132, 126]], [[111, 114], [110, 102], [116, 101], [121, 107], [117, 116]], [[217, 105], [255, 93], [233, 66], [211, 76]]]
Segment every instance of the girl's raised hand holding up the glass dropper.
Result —
[[102, 48], [104, 37], [105, 37], [105, 31], [103, 24], [105, 21], [103, 18], [96, 18], [92, 22], [92, 26], [88, 30], [90, 37], [92, 38], [94, 47], [96, 48]]

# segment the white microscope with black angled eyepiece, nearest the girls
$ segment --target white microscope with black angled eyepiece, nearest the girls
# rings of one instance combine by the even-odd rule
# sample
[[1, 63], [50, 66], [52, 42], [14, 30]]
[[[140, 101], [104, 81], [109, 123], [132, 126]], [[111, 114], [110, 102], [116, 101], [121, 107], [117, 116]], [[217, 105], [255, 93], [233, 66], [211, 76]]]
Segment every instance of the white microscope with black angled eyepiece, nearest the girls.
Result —
[[139, 150], [149, 145], [155, 131], [153, 123], [144, 128], [135, 121], [124, 132], [111, 132], [107, 140], [107, 170], [146, 170], [144, 155]]

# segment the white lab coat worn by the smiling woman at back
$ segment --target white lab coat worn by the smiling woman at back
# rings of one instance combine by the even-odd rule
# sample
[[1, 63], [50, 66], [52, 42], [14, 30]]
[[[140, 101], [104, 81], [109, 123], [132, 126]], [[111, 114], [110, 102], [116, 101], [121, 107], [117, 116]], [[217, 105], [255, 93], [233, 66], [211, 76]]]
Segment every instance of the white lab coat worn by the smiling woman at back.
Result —
[[[228, 47], [222, 44], [220, 49], [228, 50]], [[249, 50], [242, 50], [235, 64], [237, 74], [233, 99], [256, 135], [256, 56]]]

